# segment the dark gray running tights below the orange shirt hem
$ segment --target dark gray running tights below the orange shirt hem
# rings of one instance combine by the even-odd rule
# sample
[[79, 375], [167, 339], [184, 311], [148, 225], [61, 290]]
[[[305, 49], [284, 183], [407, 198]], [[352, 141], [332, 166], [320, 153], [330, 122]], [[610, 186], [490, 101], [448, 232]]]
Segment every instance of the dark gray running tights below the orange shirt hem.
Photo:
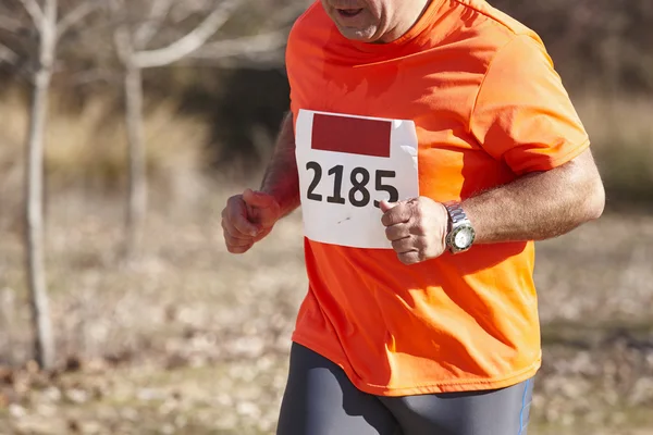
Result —
[[293, 344], [276, 435], [527, 435], [532, 380], [470, 393], [381, 397]]

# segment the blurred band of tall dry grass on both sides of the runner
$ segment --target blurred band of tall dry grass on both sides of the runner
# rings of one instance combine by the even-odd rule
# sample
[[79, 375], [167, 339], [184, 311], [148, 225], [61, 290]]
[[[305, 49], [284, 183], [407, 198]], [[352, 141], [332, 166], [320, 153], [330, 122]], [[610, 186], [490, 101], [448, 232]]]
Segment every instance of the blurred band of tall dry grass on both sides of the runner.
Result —
[[[609, 99], [599, 92], [574, 99], [590, 133], [593, 152], [609, 191], [611, 203], [653, 203], [653, 102], [650, 97]], [[82, 188], [115, 192], [124, 187], [126, 144], [123, 122], [107, 100], [94, 100], [79, 113], [51, 103], [47, 134], [48, 183], [51, 190]], [[21, 186], [26, 110], [17, 96], [0, 100], [0, 198], [12, 200]], [[151, 108], [147, 114], [148, 167], [152, 184], [183, 198], [197, 190], [195, 175], [204, 169], [202, 153], [209, 126], [181, 116], [174, 102]], [[237, 146], [237, 145], [232, 145]], [[223, 169], [225, 172], [230, 167]], [[232, 169], [237, 174], [242, 169]], [[8, 206], [4, 206], [8, 207]]]

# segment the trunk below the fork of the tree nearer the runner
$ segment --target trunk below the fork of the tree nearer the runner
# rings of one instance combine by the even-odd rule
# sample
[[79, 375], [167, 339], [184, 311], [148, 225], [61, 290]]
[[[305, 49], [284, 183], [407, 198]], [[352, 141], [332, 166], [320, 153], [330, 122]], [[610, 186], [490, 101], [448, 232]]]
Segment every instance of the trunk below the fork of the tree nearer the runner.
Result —
[[126, 213], [126, 256], [141, 252], [143, 228], [147, 212], [147, 162], [143, 133], [141, 71], [128, 62], [125, 72], [125, 125], [128, 142], [128, 192]]

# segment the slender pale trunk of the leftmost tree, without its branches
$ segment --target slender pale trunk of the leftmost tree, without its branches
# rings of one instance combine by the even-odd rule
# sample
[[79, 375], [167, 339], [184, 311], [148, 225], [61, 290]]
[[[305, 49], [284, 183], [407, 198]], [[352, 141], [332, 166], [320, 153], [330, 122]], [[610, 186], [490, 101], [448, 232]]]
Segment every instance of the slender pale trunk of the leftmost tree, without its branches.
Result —
[[39, 28], [39, 64], [34, 74], [25, 171], [25, 245], [29, 307], [35, 334], [36, 361], [46, 370], [54, 365], [56, 358], [44, 249], [44, 138], [57, 38], [56, 28], [57, 1], [48, 0]]

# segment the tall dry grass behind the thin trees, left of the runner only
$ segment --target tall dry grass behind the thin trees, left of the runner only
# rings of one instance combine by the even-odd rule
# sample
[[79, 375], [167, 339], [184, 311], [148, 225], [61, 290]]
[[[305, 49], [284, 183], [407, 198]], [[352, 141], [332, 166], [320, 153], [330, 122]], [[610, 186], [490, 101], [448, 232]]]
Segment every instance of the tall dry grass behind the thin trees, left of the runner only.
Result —
[[[46, 132], [46, 171], [50, 191], [121, 191], [126, 181], [124, 122], [112, 102], [96, 99], [78, 113], [60, 110], [54, 96]], [[22, 186], [27, 111], [14, 95], [0, 100], [0, 207], [12, 209]], [[174, 198], [197, 191], [198, 169], [209, 128], [181, 116], [174, 102], [150, 108], [145, 120], [147, 165], [156, 189]], [[12, 201], [8, 206], [5, 201]], [[4, 214], [4, 213], [3, 213]]]

